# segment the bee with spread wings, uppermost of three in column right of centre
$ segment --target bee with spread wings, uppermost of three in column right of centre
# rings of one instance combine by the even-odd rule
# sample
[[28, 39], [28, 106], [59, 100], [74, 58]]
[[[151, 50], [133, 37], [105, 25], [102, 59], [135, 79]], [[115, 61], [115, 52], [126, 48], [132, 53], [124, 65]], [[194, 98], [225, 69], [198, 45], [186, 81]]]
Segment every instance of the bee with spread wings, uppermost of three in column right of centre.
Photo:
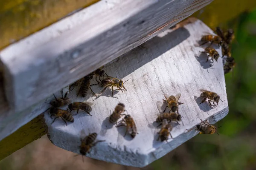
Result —
[[[183, 104], [178, 102], [178, 100], [180, 99], [180, 93], [176, 94], [176, 96], [168, 96], [167, 94], [163, 94], [163, 96], [166, 98], [163, 99], [163, 101], [167, 103], [166, 108], [170, 108], [172, 112], [177, 111], [177, 113], [179, 113], [179, 105]], [[166, 108], [163, 112], [166, 111]]]

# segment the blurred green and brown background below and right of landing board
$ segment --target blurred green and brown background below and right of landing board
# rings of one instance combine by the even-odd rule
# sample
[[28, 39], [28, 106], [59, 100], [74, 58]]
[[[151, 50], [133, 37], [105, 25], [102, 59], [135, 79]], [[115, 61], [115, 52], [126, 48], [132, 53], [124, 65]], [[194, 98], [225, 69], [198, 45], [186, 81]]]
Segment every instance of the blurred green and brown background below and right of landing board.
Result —
[[[200, 15], [198, 16], [200, 19]], [[233, 28], [234, 73], [226, 74], [229, 114], [216, 125], [220, 136], [198, 135], [144, 170], [256, 170], [256, 10], [221, 28]], [[81, 157], [53, 146], [46, 136], [0, 161], [0, 170], [107, 170], [125, 167]]]

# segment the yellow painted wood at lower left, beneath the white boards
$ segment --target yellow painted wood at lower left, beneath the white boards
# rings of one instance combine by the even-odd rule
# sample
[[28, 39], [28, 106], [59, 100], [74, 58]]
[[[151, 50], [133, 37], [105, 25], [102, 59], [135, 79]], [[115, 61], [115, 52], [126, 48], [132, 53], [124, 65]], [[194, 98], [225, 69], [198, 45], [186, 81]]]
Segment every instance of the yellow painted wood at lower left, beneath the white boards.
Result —
[[0, 141], [0, 160], [44, 136], [46, 131], [42, 120], [43, 117], [39, 115], [26, 125], [20, 127], [15, 133]]

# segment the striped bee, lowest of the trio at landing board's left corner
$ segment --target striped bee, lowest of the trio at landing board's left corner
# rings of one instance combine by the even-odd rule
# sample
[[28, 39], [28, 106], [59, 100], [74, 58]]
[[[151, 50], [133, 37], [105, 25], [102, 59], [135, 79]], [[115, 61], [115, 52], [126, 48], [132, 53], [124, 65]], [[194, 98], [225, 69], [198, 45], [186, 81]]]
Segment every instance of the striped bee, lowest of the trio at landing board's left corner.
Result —
[[49, 113], [51, 115], [50, 117], [52, 118], [52, 116], [55, 116], [55, 119], [52, 121], [52, 123], [57, 118], [61, 118], [66, 123], [66, 125], [67, 125], [67, 122], [74, 122], [74, 118], [69, 111], [65, 111], [59, 108], [54, 108], [54, 107], [51, 107], [49, 109], [50, 109]]

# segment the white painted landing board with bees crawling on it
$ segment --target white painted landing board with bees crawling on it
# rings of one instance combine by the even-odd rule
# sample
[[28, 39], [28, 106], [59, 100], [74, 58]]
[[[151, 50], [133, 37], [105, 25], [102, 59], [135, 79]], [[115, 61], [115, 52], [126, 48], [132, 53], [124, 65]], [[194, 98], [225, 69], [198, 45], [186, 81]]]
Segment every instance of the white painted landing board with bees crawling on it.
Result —
[[[99, 96], [89, 94], [83, 99], [76, 98], [76, 91], [73, 90], [69, 94], [73, 102], [94, 103], [93, 116], [80, 111], [74, 116], [75, 122], [66, 126], [60, 119], [51, 125], [52, 119], [45, 113], [49, 139], [58, 147], [79, 153], [80, 137], [84, 137], [81, 132], [86, 135], [96, 132], [98, 140], [106, 141], [98, 143], [87, 156], [144, 167], [198, 134], [198, 131], [188, 132], [186, 129], [201, 123], [200, 119], [208, 119], [213, 124], [224, 118], [228, 113], [228, 103], [222, 59], [219, 58], [218, 63], [212, 63], [212, 68], [209, 68], [210, 62], [205, 63], [206, 54], [199, 52], [203, 48], [196, 46], [206, 32], [213, 33], [199, 20], [184, 28], [169, 29], [107, 64], [104, 70], [108, 75], [128, 80], [125, 82], [127, 91], [124, 94], [115, 91], [114, 96], [118, 98], [112, 98], [110, 89], [99, 94], [102, 88], [93, 86], [93, 91]], [[218, 48], [217, 45], [214, 47]], [[221, 49], [217, 51], [221, 54]], [[212, 110], [207, 102], [199, 105], [201, 88], [216, 92], [223, 102], [220, 101], [218, 107]], [[184, 102], [179, 107], [182, 121], [180, 125], [172, 123], [173, 139], [168, 142], [156, 140], [160, 127], [156, 127], [158, 124], [154, 122], [160, 114], [156, 103], [164, 99], [164, 93], [181, 93], [180, 102]], [[125, 127], [116, 128], [108, 122], [110, 111], [118, 102], [123, 102], [134, 118], [139, 133], [134, 139], [129, 135], [124, 137]]]

